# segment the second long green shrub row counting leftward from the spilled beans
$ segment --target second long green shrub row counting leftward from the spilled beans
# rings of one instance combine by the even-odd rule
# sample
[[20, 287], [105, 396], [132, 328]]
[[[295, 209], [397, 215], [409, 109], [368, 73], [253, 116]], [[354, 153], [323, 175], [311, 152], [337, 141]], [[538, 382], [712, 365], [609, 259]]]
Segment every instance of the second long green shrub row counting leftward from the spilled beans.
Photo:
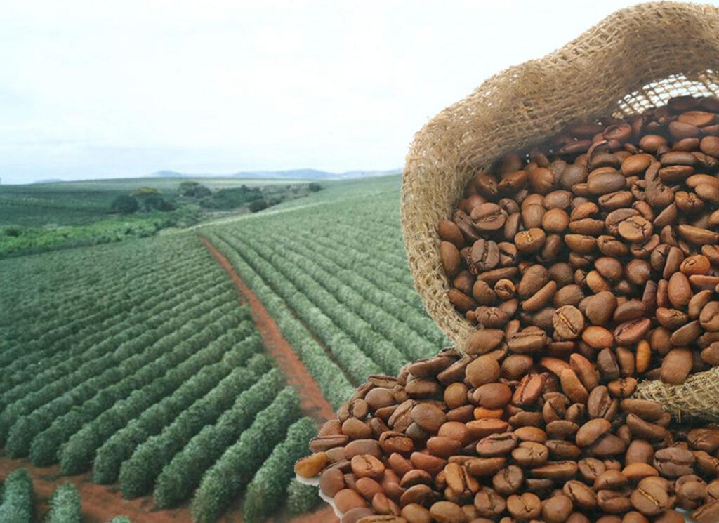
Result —
[[219, 519], [299, 417], [297, 392], [285, 387], [202, 477], [192, 501], [192, 514], [197, 523]]

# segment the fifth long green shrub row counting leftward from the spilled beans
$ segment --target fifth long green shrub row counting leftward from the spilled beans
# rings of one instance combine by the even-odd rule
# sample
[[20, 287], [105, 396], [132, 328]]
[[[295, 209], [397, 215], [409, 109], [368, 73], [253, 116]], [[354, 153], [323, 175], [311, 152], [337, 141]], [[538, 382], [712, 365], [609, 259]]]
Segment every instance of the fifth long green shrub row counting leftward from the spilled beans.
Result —
[[[239, 355], [237, 361], [231, 355], [218, 364], [206, 366], [196, 376], [186, 381], [171, 396], [142, 412], [126, 427], [118, 430], [97, 450], [93, 462], [93, 481], [109, 484], [117, 481], [120, 465], [127, 460], [137, 445], [150, 436], [158, 434], [165, 425], [169, 425], [183, 410], [190, 407], [214, 387], [226, 387], [224, 378], [233, 367], [241, 366], [245, 354], [254, 354], [262, 348], [260, 335], [254, 334], [240, 342], [234, 352]], [[260, 354], [257, 354], [260, 357]]]

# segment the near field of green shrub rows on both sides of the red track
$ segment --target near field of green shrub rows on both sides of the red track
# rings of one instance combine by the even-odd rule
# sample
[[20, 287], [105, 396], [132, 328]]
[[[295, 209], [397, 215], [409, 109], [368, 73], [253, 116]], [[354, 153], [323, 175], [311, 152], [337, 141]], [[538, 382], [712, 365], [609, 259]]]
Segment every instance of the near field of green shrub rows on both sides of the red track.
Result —
[[199, 238], [255, 292], [334, 408], [368, 374], [448, 343], [412, 287], [400, 177], [323, 185], [186, 231], [0, 260], [4, 453], [93, 471], [161, 509], [189, 503], [196, 521], [238, 499], [250, 521], [316, 506], [313, 489], [290, 482], [315, 422]]

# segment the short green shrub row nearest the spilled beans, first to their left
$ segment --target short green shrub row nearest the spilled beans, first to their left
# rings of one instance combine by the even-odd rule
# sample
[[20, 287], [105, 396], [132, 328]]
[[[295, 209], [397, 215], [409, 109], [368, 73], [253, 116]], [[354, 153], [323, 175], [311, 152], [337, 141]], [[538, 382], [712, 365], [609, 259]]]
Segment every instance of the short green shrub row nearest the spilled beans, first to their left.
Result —
[[315, 424], [308, 417], [296, 421], [287, 431], [287, 438], [277, 445], [270, 457], [247, 486], [242, 517], [248, 523], [265, 519], [277, 508], [292, 478], [296, 460], [309, 455], [308, 441], [317, 435]]

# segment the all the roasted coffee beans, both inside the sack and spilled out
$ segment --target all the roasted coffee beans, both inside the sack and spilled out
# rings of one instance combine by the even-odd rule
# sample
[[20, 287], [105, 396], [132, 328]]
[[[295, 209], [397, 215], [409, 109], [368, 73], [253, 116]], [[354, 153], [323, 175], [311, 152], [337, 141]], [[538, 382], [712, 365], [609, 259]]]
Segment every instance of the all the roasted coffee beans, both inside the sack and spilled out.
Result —
[[719, 364], [719, 100], [506, 154], [439, 223], [462, 351], [370, 376], [296, 463], [342, 523], [719, 522], [719, 427], [632, 397]]

